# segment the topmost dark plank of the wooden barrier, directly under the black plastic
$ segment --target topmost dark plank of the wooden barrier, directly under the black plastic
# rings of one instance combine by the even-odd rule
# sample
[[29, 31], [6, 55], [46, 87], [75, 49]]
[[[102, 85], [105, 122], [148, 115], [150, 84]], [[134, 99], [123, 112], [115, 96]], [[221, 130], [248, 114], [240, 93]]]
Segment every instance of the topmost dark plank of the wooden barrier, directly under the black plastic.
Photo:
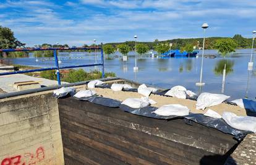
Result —
[[[80, 101], [74, 98], [60, 99], [59, 103], [60, 103], [60, 106], [66, 105], [69, 107], [70, 107], [70, 104], [74, 104], [75, 105], [74, 107], [79, 108], [79, 110], [89, 111], [96, 114], [102, 114], [103, 116], [108, 116], [108, 117], [114, 116], [115, 118], [123, 119], [125, 121], [131, 121], [131, 122], [136, 121], [141, 124], [150, 124], [150, 125], [154, 125], [155, 127], [158, 127], [158, 125], [171, 125], [172, 127], [175, 127], [177, 130], [185, 130], [184, 133], [187, 133], [186, 134], [187, 137], [192, 137], [191, 133], [196, 132], [196, 134], [193, 135], [194, 137], [192, 138], [197, 138], [196, 135], [198, 134], [198, 127], [200, 127], [200, 135], [206, 135], [206, 137], [208, 138], [213, 137], [213, 140], [215, 140], [215, 142], [216, 140], [219, 140], [219, 139], [221, 143], [223, 143], [223, 140], [229, 140], [229, 141], [233, 140], [232, 135], [224, 134], [216, 129], [209, 129], [208, 127], [197, 124], [195, 122], [193, 123], [195, 127], [187, 124], [182, 124], [184, 123], [183, 119], [160, 120], [160, 119], [152, 119], [152, 118], [150, 119], [148, 117], [143, 117], [143, 116], [134, 116], [134, 114], [130, 114], [130, 113], [127, 113], [126, 115], [124, 115], [124, 112], [119, 108], [108, 108], [105, 106], [92, 104], [88, 101]], [[104, 109], [104, 111], [102, 111], [101, 109]], [[175, 122], [173, 123], [172, 121], [175, 121]], [[172, 123], [168, 124], [168, 122], [172, 122]], [[162, 129], [165, 129], [165, 128], [166, 127], [163, 127]], [[166, 128], [166, 130], [169, 130], [169, 128]], [[209, 141], [211, 142], [212, 140], [209, 140]]]

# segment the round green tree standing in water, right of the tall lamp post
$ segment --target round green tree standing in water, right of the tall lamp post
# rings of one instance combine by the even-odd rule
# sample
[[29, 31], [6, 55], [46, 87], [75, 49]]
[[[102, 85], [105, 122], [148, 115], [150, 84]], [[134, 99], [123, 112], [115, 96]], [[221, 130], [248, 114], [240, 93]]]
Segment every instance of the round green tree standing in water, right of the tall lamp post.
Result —
[[237, 47], [236, 41], [231, 38], [223, 38], [220, 40], [216, 40], [215, 42], [215, 49], [218, 49], [218, 52], [221, 56], [226, 56], [230, 53], [235, 52]]

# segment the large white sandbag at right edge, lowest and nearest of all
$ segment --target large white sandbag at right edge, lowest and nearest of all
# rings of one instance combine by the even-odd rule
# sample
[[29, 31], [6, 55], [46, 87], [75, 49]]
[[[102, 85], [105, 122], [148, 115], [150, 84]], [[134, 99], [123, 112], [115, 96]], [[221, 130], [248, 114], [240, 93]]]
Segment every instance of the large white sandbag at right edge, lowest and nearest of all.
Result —
[[232, 112], [223, 112], [223, 120], [231, 127], [239, 130], [249, 130], [256, 133], [256, 117], [237, 116]]

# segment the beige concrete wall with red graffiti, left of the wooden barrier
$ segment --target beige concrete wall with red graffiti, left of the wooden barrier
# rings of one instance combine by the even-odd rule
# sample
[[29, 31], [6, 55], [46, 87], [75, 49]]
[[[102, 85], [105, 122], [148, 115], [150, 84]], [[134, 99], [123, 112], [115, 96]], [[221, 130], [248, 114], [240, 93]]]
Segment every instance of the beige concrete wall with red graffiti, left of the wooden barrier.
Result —
[[0, 164], [64, 164], [52, 91], [0, 99]]

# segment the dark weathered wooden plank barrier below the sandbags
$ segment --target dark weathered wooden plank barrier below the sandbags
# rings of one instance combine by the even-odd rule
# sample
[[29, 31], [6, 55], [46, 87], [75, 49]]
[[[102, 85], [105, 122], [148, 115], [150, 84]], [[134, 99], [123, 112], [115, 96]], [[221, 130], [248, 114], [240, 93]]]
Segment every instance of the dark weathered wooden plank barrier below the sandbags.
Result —
[[223, 164], [233, 136], [183, 119], [136, 116], [58, 99], [66, 164]]

